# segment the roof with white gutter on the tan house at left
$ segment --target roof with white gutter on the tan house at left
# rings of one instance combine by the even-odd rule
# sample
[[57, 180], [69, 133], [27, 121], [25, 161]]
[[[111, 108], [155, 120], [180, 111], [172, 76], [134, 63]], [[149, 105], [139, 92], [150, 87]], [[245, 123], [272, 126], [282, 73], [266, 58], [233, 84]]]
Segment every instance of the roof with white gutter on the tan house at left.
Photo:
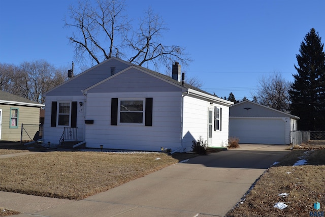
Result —
[[44, 107], [45, 105], [0, 90], [0, 104]]

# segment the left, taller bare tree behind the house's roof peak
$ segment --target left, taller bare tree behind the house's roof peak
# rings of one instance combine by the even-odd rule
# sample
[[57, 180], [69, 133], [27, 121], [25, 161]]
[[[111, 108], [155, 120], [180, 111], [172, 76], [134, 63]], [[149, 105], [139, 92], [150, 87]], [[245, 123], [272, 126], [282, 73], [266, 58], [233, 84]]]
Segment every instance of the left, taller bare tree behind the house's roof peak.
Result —
[[66, 19], [66, 26], [73, 27], [70, 42], [75, 45], [76, 58], [82, 60], [88, 54], [96, 64], [110, 58], [120, 57], [121, 47], [115, 42], [129, 29], [129, 21], [123, 15], [124, 2], [98, 0], [93, 7], [89, 0], [78, 3], [78, 7], [70, 7], [72, 23]]

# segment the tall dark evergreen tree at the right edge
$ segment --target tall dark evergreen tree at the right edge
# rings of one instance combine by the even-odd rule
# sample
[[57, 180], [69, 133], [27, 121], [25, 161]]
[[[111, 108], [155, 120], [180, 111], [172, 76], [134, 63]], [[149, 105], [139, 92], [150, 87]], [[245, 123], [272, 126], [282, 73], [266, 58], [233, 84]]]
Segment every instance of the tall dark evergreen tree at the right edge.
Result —
[[291, 114], [300, 117], [299, 130], [325, 130], [325, 53], [315, 29], [305, 36], [296, 55], [297, 74], [289, 90]]

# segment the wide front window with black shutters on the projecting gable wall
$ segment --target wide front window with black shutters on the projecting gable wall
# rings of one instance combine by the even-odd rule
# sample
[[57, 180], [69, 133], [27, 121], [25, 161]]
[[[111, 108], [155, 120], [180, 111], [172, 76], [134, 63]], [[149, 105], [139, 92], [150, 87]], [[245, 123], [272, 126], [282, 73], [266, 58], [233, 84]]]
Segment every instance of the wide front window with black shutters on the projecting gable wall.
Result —
[[152, 126], [152, 98], [112, 98], [111, 125]]

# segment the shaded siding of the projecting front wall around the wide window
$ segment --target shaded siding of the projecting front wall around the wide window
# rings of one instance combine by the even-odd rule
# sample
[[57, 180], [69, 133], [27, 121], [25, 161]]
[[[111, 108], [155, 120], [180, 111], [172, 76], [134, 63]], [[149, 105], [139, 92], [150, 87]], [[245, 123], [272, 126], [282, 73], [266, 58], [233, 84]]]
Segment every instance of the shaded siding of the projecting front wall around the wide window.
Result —
[[[152, 126], [111, 126], [112, 98], [153, 98]], [[88, 92], [86, 146], [160, 151], [181, 145], [181, 92]]]

